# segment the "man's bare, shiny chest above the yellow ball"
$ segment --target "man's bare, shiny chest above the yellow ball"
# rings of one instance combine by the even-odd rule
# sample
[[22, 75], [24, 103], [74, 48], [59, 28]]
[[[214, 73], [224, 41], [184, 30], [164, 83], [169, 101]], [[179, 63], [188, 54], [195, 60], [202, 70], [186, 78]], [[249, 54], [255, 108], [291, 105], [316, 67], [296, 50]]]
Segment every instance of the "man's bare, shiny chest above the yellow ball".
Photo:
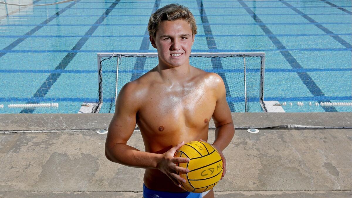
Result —
[[196, 131], [208, 126], [216, 99], [207, 89], [155, 89], [138, 112], [138, 125], [150, 132]]

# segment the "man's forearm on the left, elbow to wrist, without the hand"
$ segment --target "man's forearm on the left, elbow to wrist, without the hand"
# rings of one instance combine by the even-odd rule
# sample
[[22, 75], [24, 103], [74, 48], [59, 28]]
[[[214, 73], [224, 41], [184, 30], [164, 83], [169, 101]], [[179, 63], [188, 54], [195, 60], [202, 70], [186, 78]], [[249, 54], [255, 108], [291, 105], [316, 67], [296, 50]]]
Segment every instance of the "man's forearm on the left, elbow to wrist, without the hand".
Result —
[[157, 163], [162, 157], [162, 154], [140, 151], [123, 143], [115, 144], [110, 149], [106, 148], [105, 155], [112, 162], [136, 168], [157, 168]]

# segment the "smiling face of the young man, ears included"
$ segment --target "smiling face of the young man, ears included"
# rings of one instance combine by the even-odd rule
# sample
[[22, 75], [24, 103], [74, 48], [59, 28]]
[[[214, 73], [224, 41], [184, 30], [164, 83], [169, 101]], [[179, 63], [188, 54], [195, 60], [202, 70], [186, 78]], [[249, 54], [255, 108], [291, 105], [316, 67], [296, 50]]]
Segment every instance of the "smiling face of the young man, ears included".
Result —
[[194, 42], [192, 29], [186, 20], [162, 21], [150, 42], [158, 50], [159, 66], [173, 68], [189, 65]]

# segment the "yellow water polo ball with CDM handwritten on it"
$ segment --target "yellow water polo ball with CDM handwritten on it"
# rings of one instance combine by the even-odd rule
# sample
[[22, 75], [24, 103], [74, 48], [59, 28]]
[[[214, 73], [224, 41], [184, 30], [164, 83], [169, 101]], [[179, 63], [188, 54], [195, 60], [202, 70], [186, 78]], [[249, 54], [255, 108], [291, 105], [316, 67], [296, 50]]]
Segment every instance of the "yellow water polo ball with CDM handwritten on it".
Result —
[[222, 175], [222, 160], [218, 151], [209, 143], [192, 141], [180, 147], [174, 157], [187, 157], [189, 162], [177, 166], [188, 168], [189, 173], [179, 173], [186, 180], [181, 187], [188, 192], [201, 193], [218, 184]]

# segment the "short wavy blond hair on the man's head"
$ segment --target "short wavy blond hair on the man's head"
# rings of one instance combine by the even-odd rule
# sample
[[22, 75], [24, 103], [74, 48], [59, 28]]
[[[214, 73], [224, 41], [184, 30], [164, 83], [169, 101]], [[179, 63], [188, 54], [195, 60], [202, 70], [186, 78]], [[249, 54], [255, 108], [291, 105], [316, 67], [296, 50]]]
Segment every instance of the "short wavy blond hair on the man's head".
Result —
[[186, 20], [191, 26], [192, 35], [196, 35], [196, 20], [193, 14], [188, 10], [188, 8], [180, 4], [169, 4], [162, 8], [159, 8], [150, 16], [148, 23], [149, 36], [155, 38], [158, 26], [162, 21], [174, 21], [177, 19]]

